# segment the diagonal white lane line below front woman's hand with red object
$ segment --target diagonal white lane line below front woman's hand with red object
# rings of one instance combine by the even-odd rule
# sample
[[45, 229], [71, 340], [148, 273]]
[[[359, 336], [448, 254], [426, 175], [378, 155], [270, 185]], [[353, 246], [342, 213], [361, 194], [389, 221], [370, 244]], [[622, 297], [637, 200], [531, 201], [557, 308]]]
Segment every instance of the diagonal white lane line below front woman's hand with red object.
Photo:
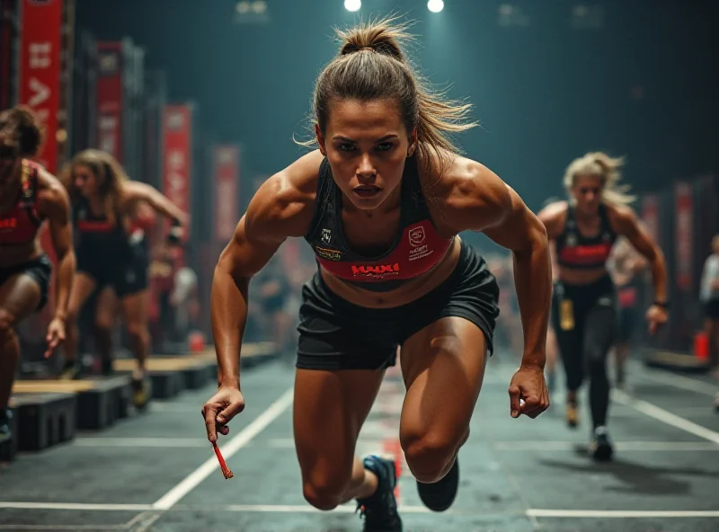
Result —
[[[289, 405], [292, 404], [293, 395], [294, 389], [289, 388], [284, 394], [280, 395], [280, 398], [272, 403], [267, 410], [257, 416], [257, 418], [255, 418], [243, 430], [240, 430], [239, 434], [237, 434], [235, 438], [230, 439], [225, 445], [221, 446], [220, 449], [225, 460], [227, 461], [229, 458], [233, 457], [235, 453], [241, 448], [244, 448], [251, 439], [262, 432], [262, 430], [265, 430], [272, 421], [275, 421], [278, 417], [280, 417], [282, 412], [285, 412]], [[154, 510], [170, 510], [175, 504], [177, 504], [177, 501], [180, 501], [182, 497], [200, 485], [200, 483], [208, 478], [210, 474], [220, 474], [217, 457], [215, 457], [214, 453], [212, 453], [212, 448], [209, 443], [208, 452], [209, 454], [211, 453], [212, 456], [191, 474], [188, 474], [180, 483], [174, 486], [172, 490], [165, 493], [162, 497], [155, 501], [152, 505]]]

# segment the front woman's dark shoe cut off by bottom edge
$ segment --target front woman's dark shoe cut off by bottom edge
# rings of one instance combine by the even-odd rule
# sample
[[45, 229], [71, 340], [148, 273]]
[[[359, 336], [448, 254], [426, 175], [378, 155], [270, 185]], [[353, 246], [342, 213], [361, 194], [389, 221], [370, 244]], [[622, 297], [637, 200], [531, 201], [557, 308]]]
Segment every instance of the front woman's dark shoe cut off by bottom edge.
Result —
[[364, 532], [402, 532], [402, 519], [397, 513], [395, 462], [380, 457], [366, 457], [365, 469], [377, 475], [377, 492], [357, 500], [357, 510], [364, 517]]

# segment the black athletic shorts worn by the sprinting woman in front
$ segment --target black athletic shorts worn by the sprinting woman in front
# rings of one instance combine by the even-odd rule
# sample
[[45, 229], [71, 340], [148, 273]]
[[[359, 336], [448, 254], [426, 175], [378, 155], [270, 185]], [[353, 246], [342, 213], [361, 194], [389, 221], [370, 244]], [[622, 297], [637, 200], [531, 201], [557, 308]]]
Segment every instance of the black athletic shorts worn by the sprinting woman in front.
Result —
[[297, 368], [380, 369], [395, 365], [398, 345], [443, 317], [466, 318], [493, 353], [499, 287], [484, 259], [462, 242], [457, 267], [442, 284], [393, 308], [356, 306], [337, 296], [319, 271], [302, 288]]

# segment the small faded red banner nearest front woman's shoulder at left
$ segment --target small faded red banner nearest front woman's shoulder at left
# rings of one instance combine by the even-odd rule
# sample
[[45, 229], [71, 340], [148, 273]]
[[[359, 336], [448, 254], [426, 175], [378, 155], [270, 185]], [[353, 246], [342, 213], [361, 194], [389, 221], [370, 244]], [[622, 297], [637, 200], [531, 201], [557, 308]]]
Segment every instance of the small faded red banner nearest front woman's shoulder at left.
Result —
[[215, 146], [212, 152], [215, 177], [215, 240], [229, 242], [239, 219], [240, 150]]

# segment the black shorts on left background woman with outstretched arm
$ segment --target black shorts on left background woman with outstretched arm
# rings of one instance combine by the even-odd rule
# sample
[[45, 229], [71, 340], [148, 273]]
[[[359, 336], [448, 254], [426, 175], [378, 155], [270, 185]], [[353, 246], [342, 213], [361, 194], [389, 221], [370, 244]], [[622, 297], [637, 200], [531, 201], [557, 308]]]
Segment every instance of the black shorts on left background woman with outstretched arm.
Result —
[[93, 278], [98, 291], [109, 286], [120, 299], [146, 290], [148, 268], [149, 257], [141, 243], [131, 244], [121, 255], [77, 251], [77, 271]]

